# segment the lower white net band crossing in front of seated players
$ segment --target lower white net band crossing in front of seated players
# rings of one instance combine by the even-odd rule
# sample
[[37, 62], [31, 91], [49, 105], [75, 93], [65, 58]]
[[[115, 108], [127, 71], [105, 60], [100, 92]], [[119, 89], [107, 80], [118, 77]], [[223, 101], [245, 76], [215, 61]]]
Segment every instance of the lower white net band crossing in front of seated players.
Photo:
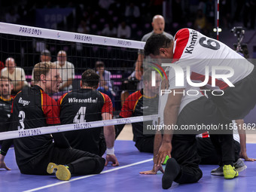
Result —
[[139, 116], [139, 117], [128, 117], [128, 118], [117, 118], [111, 120], [98, 120], [98, 121], [90, 121], [84, 123], [72, 123], [66, 125], [59, 126], [43, 126], [34, 129], [25, 129], [25, 130], [15, 130], [0, 133], [0, 140], [5, 139], [16, 139], [21, 137], [28, 136], [39, 136], [49, 133], [60, 133], [71, 130], [86, 130], [94, 127], [100, 126], [110, 126], [117, 124], [126, 124], [126, 123], [136, 123], [148, 120], [155, 120], [158, 117], [157, 114], [147, 115], [147, 116]]

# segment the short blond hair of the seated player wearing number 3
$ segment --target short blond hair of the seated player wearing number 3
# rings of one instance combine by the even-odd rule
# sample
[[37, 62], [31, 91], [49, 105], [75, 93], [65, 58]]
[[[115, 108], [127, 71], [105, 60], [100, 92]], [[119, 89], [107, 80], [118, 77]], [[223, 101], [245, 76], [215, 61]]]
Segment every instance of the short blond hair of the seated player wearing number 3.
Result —
[[38, 83], [41, 75], [47, 75], [50, 69], [57, 69], [56, 64], [53, 62], [38, 62], [34, 66], [34, 81]]

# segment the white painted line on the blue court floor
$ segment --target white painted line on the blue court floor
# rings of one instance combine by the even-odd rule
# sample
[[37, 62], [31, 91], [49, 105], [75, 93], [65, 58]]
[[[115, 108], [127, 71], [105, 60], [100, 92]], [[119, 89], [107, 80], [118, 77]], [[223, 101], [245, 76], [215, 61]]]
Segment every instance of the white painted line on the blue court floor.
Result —
[[[101, 172], [100, 174], [107, 173], [107, 172], [114, 172], [114, 171], [117, 171], [119, 169], [124, 169], [126, 167], [136, 166], [136, 165], [139, 165], [139, 164], [142, 164], [142, 163], [147, 163], [151, 160], [153, 160], [153, 158], [151, 158], [149, 160], [142, 160], [142, 161], [139, 161], [137, 163], [128, 164], [126, 166], [120, 166], [120, 167], [117, 167], [117, 168], [114, 168], [114, 169], [105, 170], [105, 171]], [[94, 175], [99, 175], [99, 174], [94, 174]], [[45, 188], [48, 188], [48, 187], [53, 187], [53, 186], [56, 186], [56, 185], [59, 185], [59, 184], [66, 184], [66, 183], [69, 183], [69, 182], [72, 182], [72, 181], [78, 181], [78, 180], [83, 179], [83, 178], [89, 178], [89, 177], [92, 177], [94, 175], [85, 175], [85, 176], [82, 176], [82, 177], [70, 179], [69, 181], [60, 181], [60, 182], [55, 183], [55, 184], [47, 184], [43, 187], [37, 187], [37, 188], [34, 188], [34, 189], [30, 189], [30, 190], [24, 190], [23, 192], [32, 192], [32, 191], [36, 191], [36, 190], [41, 190], [41, 189], [45, 189]]]

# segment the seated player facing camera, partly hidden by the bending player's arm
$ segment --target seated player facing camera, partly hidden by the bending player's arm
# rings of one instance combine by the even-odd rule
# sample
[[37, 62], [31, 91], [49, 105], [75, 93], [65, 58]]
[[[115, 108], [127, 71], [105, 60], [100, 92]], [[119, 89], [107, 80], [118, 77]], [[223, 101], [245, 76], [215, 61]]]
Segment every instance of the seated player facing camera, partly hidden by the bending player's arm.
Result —
[[[144, 89], [131, 94], [123, 103], [120, 111], [120, 118], [146, 116], [157, 114], [158, 92], [160, 84], [160, 75], [156, 75], [156, 84], [151, 84], [151, 70], [148, 69], [143, 74]], [[133, 142], [136, 148], [141, 152], [153, 153], [154, 148], [154, 130], [147, 132], [147, 127], [152, 125], [152, 120], [145, 122], [132, 123]], [[116, 137], [123, 130], [125, 124], [116, 126]]]

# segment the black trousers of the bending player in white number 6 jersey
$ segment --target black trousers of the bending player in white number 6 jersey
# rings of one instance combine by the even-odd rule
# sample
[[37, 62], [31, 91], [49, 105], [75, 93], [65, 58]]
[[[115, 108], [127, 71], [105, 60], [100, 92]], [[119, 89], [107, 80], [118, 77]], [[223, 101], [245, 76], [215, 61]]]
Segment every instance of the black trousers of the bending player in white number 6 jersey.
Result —
[[[178, 127], [184, 125], [204, 124], [211, 125], [226, 122], [224, 117], [218, 111], [217, 106], [211, 99], [201, 97], [187, 104], [178, 115]], [[205, 130], [203, 130], [205, 132]], [[194, 133], [194, 134], [192, 134]], [[221, 132], [219, 132], [221, 133]], [[196, 134], [199, 134], [197, 132]], [[200, 157], [197, 154], [197, 139], [194, 131], [187, 132], [187, 130], [175, 130], [172, 137], [172, 157], [181, 166], [181, 173], [175, 178], [175, 182], [179, 184], [197, 182], [202, 178], [202, 171], [199, 168]], [[233, 140], [230, 141], [230, 134], [214, 135], [215, 147], [220, 159], [233, 163]], [[212, 137], [212, 135], [211, 135]], [[223, 147], [225, 146], [225, 148]], [[228, 147], [228, 150], [225, 149]], [[232, 151], [232, 152], [231, 152]]]

